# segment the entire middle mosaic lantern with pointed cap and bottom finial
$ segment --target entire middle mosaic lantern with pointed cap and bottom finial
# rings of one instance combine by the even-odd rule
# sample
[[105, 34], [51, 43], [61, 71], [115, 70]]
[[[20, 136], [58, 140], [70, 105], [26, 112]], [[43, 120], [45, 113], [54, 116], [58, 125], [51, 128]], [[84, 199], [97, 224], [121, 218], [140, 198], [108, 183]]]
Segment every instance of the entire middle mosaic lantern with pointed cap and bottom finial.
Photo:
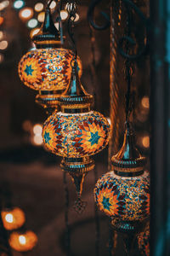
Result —
[[61, 167], [73, 177], [78, 195], [86, 173], [94, 169], [90, 156], [105, 148], [110, 138], [110, 125], [101, 113], [91, 110], [92, 102], [93, 96], [80, 83], [75, 62], [71, 83], [59, 98], [61, 111], [49, 116], [42, 129], [44, 145], [63, 157]]

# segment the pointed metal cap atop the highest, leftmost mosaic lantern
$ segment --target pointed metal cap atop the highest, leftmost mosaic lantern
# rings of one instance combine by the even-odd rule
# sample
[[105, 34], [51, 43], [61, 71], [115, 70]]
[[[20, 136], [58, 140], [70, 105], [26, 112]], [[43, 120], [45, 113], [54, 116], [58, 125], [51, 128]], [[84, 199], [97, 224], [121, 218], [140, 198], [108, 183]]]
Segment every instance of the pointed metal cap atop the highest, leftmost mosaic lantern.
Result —
[[[54, 26], [54, 20], [49, 7], [45, 11], [45, 18], [40, 31], [32, 38], [37, 48], [46, 48], [45, 45], [59, 46], [61, 45], [60, 35]], [[41, 47], [42, 46], [42, 47]]]

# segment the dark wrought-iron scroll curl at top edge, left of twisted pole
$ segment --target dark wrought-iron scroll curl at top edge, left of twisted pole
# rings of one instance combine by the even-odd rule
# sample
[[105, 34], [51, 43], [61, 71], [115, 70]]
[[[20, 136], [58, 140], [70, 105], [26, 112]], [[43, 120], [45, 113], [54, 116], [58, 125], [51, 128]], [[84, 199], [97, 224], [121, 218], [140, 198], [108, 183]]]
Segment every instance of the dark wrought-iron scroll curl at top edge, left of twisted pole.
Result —
[[105, 14], [105, 12], [101, 12], [101, 15], [105, 18], [105, 24], [103, 26], [99, 26], [95, 24], [94, 22], [94, 9], [97, 4], [99, 4], [102, 0], [91, 0], [89, 9], [88, 9], [88, 22], [90, 23], [91, 26], [94, 27], [96, 30], [105, 30], [110, 26], [110, 17]]

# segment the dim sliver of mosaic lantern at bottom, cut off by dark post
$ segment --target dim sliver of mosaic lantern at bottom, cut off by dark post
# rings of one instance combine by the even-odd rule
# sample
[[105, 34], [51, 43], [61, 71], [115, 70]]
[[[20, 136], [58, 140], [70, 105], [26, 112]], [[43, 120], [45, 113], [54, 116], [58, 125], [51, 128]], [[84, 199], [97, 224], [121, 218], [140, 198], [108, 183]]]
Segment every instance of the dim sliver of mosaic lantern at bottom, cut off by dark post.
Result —
[[150, 224], [138, 236], [139, 250], [144, 256], [150, 256]]

